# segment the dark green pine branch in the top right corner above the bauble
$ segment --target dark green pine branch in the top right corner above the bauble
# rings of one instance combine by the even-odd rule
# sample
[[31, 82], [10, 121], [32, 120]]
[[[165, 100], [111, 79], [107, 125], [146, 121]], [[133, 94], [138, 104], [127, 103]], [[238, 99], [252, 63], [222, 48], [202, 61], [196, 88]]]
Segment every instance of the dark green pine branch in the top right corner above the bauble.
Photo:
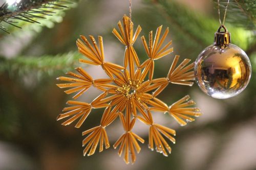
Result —
[[[217, 0], [214, 0], [214, 2], [217, 2]], [[225, 9], [226, 4], [227, 1], [220, 1], [222, 11]], [[255, 0], [230, 0], [227, 9], [227, 22], [248, 30], [256, 30], [255, 14]]]

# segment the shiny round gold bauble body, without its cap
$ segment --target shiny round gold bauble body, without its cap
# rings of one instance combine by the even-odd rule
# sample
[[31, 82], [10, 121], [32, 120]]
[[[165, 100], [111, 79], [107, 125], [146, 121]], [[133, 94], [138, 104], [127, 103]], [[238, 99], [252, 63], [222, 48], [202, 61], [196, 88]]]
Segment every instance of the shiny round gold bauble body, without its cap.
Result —
[[206, 94], [227, 99], [242, 92], [249, 83], [251, 65], [246, 53], [236, 45], [210, 45], [198, 56], [196, 82]]

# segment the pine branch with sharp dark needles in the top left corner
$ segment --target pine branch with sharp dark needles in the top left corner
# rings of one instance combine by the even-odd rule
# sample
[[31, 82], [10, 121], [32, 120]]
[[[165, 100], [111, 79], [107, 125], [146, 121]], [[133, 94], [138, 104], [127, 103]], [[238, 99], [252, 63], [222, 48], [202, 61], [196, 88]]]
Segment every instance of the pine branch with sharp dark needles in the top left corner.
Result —
[[9, 33], [4, 24], [21, 28], [18, 21], [40, 23], [38, 19], [46, 19], [46, 16], [53, 15], [56, 13], [56, 10], [68, 8], [72, 2], [74, 1], [22, 0], [15, 1], [13, 4], [8, 4], [8, 2], [5, 2], [2, 4], [2, 6], [0, 6], [0, 30]]

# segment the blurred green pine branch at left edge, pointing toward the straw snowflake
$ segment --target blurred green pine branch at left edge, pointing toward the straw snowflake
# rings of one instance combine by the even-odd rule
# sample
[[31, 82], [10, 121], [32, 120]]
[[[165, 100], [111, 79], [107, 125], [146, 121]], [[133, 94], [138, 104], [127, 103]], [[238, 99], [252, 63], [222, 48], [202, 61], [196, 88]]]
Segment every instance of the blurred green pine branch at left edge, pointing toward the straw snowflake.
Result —
[[10, 75], [29, 74], [31, 72], [46, 72], [52, 74], [53, 71], [65, 71], [78, 64], [80, 55], [77, 52], [70, 52], [62, 55], [46, 55], [41, 57], [16, 57], [13, 59], [0, 58], [0, 74], [7, 71]]

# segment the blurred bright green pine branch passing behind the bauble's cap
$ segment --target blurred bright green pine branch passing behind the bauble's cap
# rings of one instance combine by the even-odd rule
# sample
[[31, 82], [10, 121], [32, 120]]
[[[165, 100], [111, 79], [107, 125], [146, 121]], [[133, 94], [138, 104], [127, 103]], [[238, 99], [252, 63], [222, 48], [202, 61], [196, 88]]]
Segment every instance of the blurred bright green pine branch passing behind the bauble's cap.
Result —
[[[214, 33], [219, 28], [217, 19], [191, 11], [175, 1], [147, 0], [147, 2], [151, 2], [166, 18], [170, 30], [177, 36], [177, 40], [174, 42], [180, 43], [179, 46], [184, 46], [185, 51], [191, 51], [190, 56], [198, 55], [203, 48], [213, 43]], [[246, 50], [250, 43], [248, 39], [252, 37], [252, 33], [230, 25], [227, 27], [232, 35], [236, 35], [232, 36], [232, 43]]]

